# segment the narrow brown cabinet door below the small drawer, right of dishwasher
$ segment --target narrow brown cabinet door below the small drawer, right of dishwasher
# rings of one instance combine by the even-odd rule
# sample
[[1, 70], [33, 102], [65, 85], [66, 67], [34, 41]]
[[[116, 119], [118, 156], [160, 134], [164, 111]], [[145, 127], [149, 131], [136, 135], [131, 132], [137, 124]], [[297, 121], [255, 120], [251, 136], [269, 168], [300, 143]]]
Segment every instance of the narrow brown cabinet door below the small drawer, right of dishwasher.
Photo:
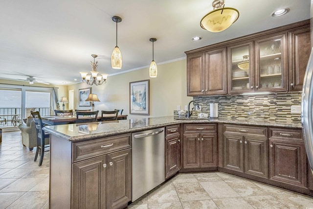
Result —
[[165, 178], [179, 171], [179, 134], [165, 139]]

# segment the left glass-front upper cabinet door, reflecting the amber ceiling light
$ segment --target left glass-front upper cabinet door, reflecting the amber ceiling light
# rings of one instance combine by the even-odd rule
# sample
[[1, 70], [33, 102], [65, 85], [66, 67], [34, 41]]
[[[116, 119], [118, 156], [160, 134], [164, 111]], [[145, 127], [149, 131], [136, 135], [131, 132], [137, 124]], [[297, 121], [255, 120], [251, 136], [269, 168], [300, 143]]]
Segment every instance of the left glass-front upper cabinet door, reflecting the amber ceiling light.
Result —
[[253, 54], [253, 42], [227, 48], [229, 93], [254, 91]]

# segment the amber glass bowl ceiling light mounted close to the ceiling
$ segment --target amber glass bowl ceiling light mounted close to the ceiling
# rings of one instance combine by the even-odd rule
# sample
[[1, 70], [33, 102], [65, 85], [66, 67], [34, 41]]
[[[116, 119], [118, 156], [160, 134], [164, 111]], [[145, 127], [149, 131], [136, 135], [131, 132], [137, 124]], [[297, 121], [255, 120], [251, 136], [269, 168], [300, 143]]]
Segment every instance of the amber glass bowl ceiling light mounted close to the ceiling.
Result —
[[210, 32], [221, 32], [227, 29], [239, 18], [239, 11], [231, 7], [224, 7], [224, 0], [213, 0], [213, 11], [207, 13], [200, 22], [203, 29]]

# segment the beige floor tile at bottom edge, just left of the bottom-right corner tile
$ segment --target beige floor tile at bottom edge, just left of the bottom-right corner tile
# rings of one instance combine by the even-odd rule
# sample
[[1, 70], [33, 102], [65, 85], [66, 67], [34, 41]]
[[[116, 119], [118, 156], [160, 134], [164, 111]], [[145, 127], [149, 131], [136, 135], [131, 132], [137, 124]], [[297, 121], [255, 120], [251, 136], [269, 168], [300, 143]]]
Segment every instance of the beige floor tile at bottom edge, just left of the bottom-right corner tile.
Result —
[[286, 205], [281, 203], [278, 198], [271, 195], [245, 197], [245, 200], [253, 208], [256, 209], [286, 209]]

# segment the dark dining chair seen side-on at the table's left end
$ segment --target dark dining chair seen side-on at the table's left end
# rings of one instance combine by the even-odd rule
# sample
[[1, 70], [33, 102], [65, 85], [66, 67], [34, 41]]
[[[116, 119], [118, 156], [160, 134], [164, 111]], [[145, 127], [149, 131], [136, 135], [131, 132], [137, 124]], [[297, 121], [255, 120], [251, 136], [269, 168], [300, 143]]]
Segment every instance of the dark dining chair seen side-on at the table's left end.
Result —
[[34, 118], [36, 131], [37, 131], [37, 148], [36, 148], [34, 161], [37, 161], [37, 157], [39, 154], [40, 155], [39, 166], [41, 166], [43, 163], [44, 154], [45, 154], [45, 139], [46, 138], [50, 139], [50, 134], [45, 133], [45, 131], [43, 130], [44, 124], [43, 124], [43, 121], [41, 119], [39, 112], [38, 111], [30, 112], [30, 114]]

